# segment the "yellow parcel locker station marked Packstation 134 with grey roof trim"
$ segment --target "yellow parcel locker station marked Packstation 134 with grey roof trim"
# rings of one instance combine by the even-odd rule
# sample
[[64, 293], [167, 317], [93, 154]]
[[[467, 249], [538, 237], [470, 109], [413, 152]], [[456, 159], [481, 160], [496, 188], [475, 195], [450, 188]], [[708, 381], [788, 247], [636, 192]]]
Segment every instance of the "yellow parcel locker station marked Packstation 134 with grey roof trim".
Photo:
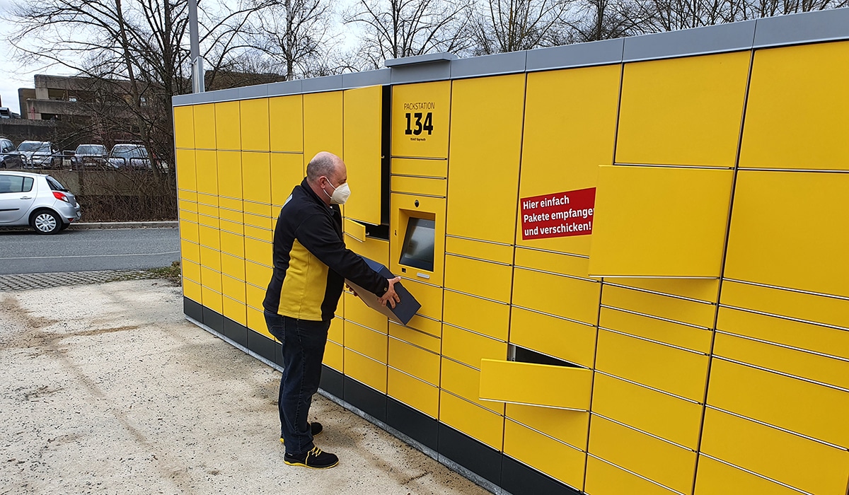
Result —
[[421, 307], [346, 291], [326, 395], [494, 492], [846, 495], [847, 56], [841, 8], [178, 96], [184, 312], [283, 367], [273, 228], [330, 151]]

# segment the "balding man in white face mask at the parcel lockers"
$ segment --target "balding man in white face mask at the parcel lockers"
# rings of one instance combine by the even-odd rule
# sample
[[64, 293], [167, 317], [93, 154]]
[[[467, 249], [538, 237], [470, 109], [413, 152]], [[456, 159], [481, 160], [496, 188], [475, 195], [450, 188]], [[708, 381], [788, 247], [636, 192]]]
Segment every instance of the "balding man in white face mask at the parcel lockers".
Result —
[[322, 425], [307, 423], [312, 396], [321, 379], [327, 331], [345, 279], [380, 296], [391, 307], [400, 298], [394, 285], [363, 258], [346, 249], [339, 205], [351, 194], [345, 163], [321, 152], [306, 166], [306, 178], [292, 189], [274, 229], [274, 272], [268, 284], [268, 331], [283, 343], [283, 377], [278, 408], [284, 462], [312, 469], [339, 463], [312, 443]]

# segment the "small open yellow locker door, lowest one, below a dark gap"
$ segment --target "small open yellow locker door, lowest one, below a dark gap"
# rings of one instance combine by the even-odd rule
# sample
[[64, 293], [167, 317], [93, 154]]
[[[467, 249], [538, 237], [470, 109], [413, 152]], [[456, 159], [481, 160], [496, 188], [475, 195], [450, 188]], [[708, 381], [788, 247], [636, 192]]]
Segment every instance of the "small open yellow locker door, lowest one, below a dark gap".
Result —
[[592, 385], [587, 368], [481, 359], [482, 401], [588, 411]]

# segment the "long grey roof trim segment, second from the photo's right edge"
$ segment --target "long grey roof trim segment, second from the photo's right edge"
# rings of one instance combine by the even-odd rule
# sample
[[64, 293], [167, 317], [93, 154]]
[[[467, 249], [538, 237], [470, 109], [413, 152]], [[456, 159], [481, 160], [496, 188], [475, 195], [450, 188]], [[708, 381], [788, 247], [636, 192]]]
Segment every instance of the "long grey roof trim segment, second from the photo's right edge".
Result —
[[625, 38], [622, 61], [636, 62], [749, 50], [754, 39], [754, 20], [630, 37]]

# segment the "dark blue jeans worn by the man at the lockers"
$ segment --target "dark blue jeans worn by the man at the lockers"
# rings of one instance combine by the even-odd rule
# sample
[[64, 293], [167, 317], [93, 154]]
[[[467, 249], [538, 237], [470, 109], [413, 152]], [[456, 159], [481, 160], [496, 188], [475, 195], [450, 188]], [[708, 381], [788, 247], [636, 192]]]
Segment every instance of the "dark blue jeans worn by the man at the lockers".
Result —
[[284, 369], [278, 394], [280, 436], [286, 453], [302, 455], [314, 447], [306, 415], [321, 381], [330, 322], [299, 320], [272, 312], [265, 312], [265, 317], [268, 331], [283, 343]]

